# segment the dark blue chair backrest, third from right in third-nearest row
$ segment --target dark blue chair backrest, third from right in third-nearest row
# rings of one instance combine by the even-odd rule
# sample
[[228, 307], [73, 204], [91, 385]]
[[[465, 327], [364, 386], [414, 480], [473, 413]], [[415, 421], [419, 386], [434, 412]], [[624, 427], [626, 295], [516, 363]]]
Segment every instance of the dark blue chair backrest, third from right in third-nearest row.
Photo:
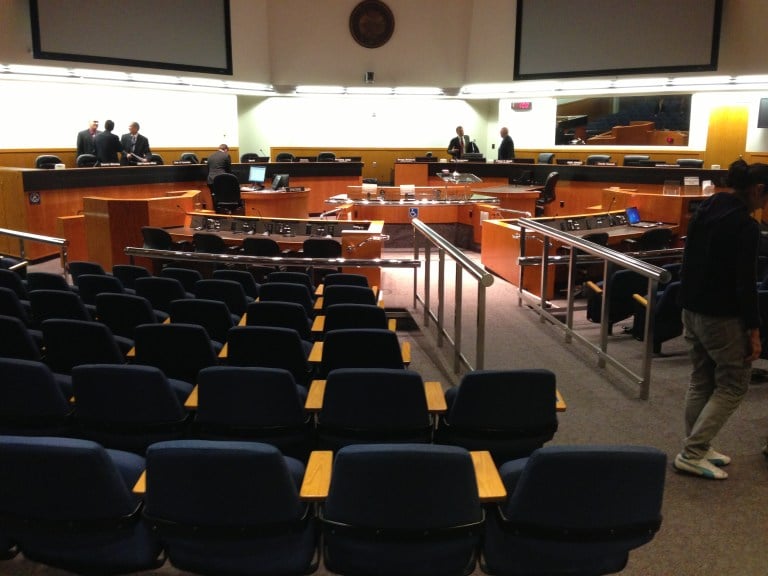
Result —
[[134, 339], [134, 362], [156, 366], [168, 378], [195, 383], [200, 370], [218, 364], [208, 332], [196, 324], [142, 324]]

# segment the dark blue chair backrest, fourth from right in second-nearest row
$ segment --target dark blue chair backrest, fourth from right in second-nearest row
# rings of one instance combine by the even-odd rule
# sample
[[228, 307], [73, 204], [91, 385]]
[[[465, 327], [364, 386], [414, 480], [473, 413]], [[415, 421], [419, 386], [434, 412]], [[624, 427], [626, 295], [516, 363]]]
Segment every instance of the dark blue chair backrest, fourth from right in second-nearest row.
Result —
[[187, 411], [154, 366], [75, 366], [72, 387], [80, 434], [106, 448], [143, 454], [153, 442], [178, 438], [185, 431]]

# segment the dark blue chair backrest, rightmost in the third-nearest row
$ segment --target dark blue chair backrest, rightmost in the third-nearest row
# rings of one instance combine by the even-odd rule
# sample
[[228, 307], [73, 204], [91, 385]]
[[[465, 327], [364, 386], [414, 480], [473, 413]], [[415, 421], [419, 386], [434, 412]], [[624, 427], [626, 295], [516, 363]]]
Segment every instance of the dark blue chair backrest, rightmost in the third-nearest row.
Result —
[[336, 368], [403, 369], [403, 355], [397, 334], [376, 328], [331, 330], [323, 339], [320, 374]]

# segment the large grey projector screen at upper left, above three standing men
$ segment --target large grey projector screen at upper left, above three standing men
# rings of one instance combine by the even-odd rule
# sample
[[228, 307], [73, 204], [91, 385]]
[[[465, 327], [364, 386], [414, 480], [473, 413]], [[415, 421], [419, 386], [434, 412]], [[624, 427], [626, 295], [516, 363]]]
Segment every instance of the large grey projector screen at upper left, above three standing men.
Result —
[[30, 0], [35, 58], [232, 74], [229, 0]]

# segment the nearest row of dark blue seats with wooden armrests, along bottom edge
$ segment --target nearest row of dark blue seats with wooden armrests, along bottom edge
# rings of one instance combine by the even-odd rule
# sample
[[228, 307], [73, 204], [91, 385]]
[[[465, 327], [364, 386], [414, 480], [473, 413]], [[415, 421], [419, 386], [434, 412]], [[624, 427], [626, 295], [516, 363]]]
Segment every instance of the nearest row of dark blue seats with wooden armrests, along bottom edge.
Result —
[[199, 574], [596, 576], [622, 570], [661, 526], [656, 449], [553, 446], [498, 470], [477, 460], [373, 444], [305, 466], [266, 444], [206, 440], [155, 443], [144, 458], [0, 436], [0, 554], [78, 574], [167, 558]]

